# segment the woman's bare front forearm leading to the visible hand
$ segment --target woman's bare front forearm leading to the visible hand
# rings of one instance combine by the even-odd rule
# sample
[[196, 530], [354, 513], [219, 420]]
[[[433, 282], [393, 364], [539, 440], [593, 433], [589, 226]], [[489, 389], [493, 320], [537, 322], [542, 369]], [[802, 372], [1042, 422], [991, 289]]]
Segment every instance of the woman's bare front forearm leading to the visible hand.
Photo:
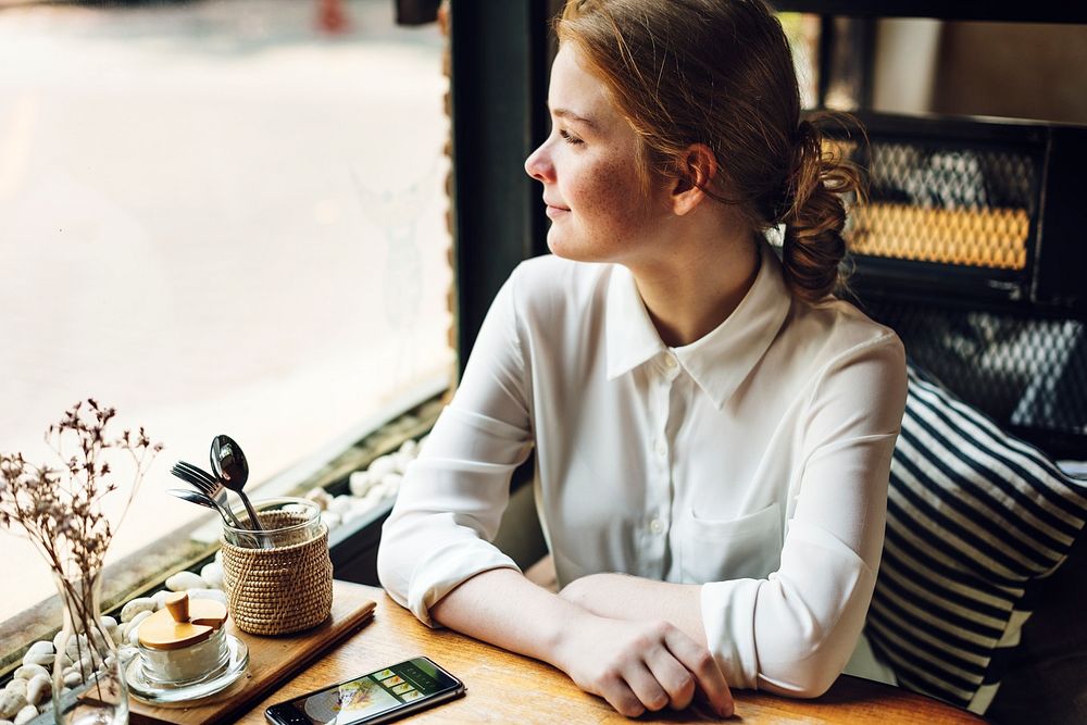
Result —
[[482, 572], [430, 608], [450, 629], [559, 667], [562, 636], [587, 614], [512, 568]]

